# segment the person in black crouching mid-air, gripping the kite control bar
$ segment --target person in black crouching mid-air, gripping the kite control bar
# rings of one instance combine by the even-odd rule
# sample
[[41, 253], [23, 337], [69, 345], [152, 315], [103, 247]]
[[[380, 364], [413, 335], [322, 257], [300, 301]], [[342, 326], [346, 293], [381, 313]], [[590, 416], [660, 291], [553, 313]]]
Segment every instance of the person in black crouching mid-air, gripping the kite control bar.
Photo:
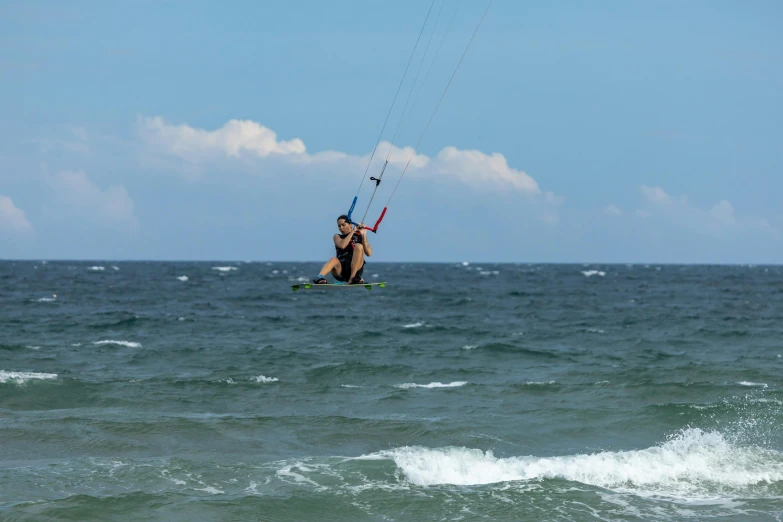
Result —
[[372, 247], [367, 239], [367, 232], [362, 231], [363, 228], [364, 223], [354, 227], [344, 214], [337, 218], [337, 229], [340, 233], [333, 238], [337, 255], [326, 262], [318, 277], [313, 279], [313, 283], [327, 284], [325, 276], [331, 272], [338, 281], [351, 285], [364, 284], [364, 256], [372, 255]]

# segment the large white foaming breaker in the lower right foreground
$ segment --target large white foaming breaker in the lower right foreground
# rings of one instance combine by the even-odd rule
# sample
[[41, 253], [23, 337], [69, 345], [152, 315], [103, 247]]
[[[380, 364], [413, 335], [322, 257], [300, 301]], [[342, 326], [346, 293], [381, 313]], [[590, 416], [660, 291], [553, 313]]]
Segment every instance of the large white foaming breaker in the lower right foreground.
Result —
[[642, 496], [698, 500], [740, 494], [783, 480], [783, 454], [730, 444], [717, 432], [687, 429], [651, 448], [563, 457], [497, 458], [460, 447], [380, 452], [413, 484], [492, 484], [565, 479]]

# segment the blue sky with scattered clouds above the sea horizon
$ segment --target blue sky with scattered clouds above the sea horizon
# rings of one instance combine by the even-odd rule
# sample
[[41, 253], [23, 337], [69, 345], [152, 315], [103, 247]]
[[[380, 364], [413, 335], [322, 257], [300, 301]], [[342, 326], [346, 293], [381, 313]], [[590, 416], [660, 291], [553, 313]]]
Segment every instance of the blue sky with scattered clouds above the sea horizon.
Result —
[[0, 0], [0, 259], [783, 263], [783, 3], [487, 5]]

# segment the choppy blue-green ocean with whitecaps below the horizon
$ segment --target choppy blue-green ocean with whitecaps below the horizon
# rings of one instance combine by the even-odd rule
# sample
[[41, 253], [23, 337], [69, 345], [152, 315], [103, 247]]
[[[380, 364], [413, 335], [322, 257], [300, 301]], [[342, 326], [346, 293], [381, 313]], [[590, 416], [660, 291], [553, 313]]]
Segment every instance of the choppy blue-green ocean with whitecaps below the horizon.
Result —
[[783, 267], [0, 262], [0, 520], [783, 520]]

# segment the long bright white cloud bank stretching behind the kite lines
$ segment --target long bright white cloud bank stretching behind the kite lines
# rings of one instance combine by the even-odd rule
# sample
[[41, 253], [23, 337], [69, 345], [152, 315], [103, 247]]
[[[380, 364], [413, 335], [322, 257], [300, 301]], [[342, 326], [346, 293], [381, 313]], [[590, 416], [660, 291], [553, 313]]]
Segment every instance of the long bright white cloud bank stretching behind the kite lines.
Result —
[[[252, 159], [283, 162], [288, 166], [323, 168], [344, 176], [361, 176], [367, 168], [370, 154], [356, 156], [339, 151], [308, 153], [302, 140], [277, 139], [277, 134], [253, 121], [231, 120], [223, 127], [207, 131], [188, 125], [171, 125], [161, 117], [140, 117], [139, 132], [144, 142], [160, 153], [176, 156], [192, 164]], [[562, 200], [552, 193], [543, 193], [538, 183], [527, 173], [508, 165], [500, 153], [486, 154], [478, 150], [443, 148], [434, 158], [414, 154], [412, 147], [396, 147], [381, 142], [370, 165], [371, 172], [379, 172], [388, 158], [389, 167], [401, 173], [407, 166], [406, 176], [439, 177], [461, 182], [473, 188], [513, 190], [550, 205]], [[217, 166], [217, 165], [215, 165]], [[188, 171], [192, 176], [194, 173]], [[388, 174], [385, 173], [384, 175]]]

